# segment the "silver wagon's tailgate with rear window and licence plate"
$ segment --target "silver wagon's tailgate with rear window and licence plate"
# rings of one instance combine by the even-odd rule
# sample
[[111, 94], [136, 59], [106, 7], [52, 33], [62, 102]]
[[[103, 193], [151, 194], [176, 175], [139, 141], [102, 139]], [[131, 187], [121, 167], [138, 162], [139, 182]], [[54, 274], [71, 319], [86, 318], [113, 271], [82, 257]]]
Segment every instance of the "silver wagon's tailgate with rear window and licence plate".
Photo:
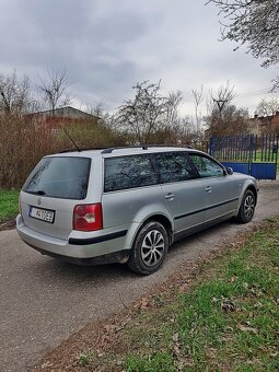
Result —
[[25, 225], [39, 233], [68, 239], [72, 231], [73, 208], [86, 198], [90, 168], [89, 158], [42, 159], [21, 193]]

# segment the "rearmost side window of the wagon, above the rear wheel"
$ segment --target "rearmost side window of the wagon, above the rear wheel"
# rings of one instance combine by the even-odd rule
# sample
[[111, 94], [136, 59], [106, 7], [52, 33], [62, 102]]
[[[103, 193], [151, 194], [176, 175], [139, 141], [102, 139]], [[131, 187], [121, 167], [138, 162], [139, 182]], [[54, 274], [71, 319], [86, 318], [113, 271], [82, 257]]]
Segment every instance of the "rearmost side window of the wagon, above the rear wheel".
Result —
[[105, 191], [156, 184], [156, 174], [146, 155], [119, 156], [105, 160]]

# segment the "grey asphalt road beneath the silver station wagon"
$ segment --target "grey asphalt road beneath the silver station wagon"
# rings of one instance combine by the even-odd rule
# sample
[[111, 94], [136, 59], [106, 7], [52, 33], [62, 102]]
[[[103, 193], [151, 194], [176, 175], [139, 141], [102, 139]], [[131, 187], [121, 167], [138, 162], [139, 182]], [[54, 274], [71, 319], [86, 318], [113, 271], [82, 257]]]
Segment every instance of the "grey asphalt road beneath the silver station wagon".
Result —
[[261, 182], [252, 223], [232, 221], [175, 244], [164, 267], [138, 277], [124, 265], [79, 267], [42, 256], [15, 230], [0, 232], [0, 371], [26, 371], [88, 322], [123, 310], [185, 261], [279, 214], [279, 183]]

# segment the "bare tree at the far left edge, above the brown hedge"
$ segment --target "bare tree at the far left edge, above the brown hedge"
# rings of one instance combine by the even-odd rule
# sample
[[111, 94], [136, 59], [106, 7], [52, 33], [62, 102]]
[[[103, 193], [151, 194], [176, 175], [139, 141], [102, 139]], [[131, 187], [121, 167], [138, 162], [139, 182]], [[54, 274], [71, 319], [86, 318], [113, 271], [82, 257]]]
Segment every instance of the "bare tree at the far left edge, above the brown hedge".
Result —
[[5, 115], [28, 112], [32, 102], [30, 79], [19, 80], [16, 71], [4, 75], [0, 74], [0, 112]]

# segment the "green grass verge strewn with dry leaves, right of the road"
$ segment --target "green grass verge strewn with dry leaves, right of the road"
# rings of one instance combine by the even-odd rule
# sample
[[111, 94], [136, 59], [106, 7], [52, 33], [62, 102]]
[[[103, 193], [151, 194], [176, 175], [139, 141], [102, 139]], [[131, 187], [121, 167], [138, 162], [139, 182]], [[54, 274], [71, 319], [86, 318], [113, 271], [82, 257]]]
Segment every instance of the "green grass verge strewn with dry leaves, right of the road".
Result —
[[202, 265], [190, 289], [173, 289], [171, 300], [160, 293], [150, 309], [138, 310], [115, 349], [86, 368], [278, 371], [279, 219]]

